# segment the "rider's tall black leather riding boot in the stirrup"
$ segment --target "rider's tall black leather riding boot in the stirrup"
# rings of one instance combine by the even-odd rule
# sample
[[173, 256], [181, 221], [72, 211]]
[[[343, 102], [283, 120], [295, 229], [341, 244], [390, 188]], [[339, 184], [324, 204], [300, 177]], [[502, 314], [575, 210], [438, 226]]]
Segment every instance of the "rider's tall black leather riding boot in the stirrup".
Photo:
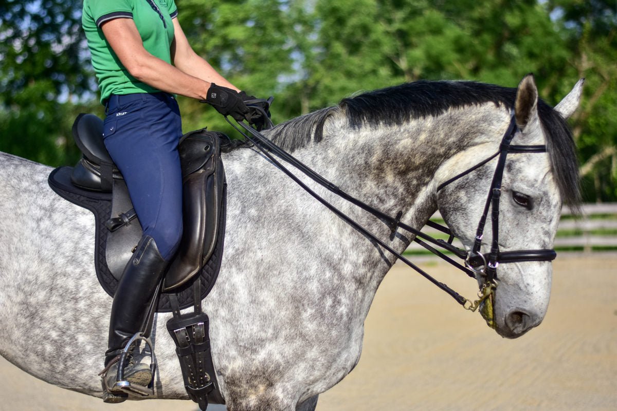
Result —
[[[157, 286], [167, 264], [154, 238], [149, 235], [141, 238], [135, 253], [126, 264], [114, 295], [109, 322], [109, 349], [105, 353], [106, 368], [102, 381], [105, 402], [122, 402], [126, 399], [125, 393], [110, 390], [115, 383], [118, 357], [131, 337], [146, 328], [148, 311], [156, 298]], [[132, 360], [126, 366], [124, 375], [131, 384], [144, 386], [152, 378], [146, 364], [135, 364]]]

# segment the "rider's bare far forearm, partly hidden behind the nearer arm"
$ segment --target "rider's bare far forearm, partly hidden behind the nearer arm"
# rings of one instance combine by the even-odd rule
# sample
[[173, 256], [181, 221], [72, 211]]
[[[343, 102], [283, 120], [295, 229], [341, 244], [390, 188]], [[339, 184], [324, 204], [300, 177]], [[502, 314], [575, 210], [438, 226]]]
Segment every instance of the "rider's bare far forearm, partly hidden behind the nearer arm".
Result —
[[178, 22], [178, 18], [173, 18], [173, 42], [171, 47], [172, 62], [175, 67], [184, 71], [191, 76], [201, 78], [209, 83], [216, 83], [219, 86], [229, 87], [230, 89], [240, 91], [238, 87], [227, 81], [222, 75], [220, 75], [214, 68], [199, 57], [196, 52], [193, 51], [193, 47], [189, 44], [184, 31]]

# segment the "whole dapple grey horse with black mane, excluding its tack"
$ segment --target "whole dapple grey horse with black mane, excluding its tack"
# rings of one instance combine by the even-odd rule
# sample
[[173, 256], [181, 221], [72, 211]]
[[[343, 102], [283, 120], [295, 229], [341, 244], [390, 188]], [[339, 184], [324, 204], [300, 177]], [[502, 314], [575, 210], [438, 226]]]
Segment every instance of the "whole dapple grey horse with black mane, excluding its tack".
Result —
[[[419, 229], [441, 211], [469, 247], [496, 160], [436, 187], [494, 153], [514, 112], [520, 128], [514, 144], [547, 144], [548, 152], [508, 157], [500, 246], [551, 248], [562, 202], [578, 200], [565, 119], [581, 87], [579, 81], [553, 109], [538, 100], [532, 76], [518, 89], [421, 81], [345, 99], [266, 134], [347, 193], [393, 216], [402, 211], [410, 226]], [[358, 362], [363, 322], [395, 258], [318, 205], [254, 147], [223, 160], [225, 254], [204, 300], [222, 394], [233, 411], [313, 410], [318, 394]], [[50, 171], [0, 153], [0, 354], [49, 383], [101, 396], [97, 372], [112, 299], [94, 274], [94, 218], [49, 189]], [[390, 240], [390, 230], [370, 214], [315, 190], [395, 250], [412, 240], [402, 230]], [[490, 230], [486, 237], [484, 252]], [[502, 264], [497, 275], [495, 329], [516, 338], [547, 311], [551, 264]], [[155, 397], [186, 399], [165, 329], [169, 317], [155, 318]]]

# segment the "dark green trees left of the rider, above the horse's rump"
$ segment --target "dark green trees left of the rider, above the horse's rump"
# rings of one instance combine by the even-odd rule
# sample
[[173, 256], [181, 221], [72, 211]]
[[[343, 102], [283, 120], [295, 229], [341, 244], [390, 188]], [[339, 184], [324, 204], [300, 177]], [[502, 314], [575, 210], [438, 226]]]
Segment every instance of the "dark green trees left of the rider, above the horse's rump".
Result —
[[77, 157], [67, 102], [93, 86], [80, 17], [78, 1], [0, 3], [0, 150], [53, 165]]

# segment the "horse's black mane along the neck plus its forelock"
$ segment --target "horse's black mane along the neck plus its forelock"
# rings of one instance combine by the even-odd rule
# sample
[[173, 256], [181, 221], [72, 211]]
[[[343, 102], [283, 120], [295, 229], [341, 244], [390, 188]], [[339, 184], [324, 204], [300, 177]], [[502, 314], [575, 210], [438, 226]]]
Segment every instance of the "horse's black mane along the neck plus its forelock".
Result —
[[[323, 139], [323, 127], [329, 116], [342, 112], [350, 126], [392, 126], [413, 118], [439, 116], [452, 108], [493, 103], [511, 110], [516, 89], [474, 81], [416, 81], [366, 92], [343, 99], [329, 107], [300, 116], [273, 129], [271, 137], [283, 149], [293, 151]], [[578, 162], [572, 133], [561, 115], [544, 101], [538, 101], [540, 121], [547, 137], [553, 177], [561, 198], [579, 210]]]

